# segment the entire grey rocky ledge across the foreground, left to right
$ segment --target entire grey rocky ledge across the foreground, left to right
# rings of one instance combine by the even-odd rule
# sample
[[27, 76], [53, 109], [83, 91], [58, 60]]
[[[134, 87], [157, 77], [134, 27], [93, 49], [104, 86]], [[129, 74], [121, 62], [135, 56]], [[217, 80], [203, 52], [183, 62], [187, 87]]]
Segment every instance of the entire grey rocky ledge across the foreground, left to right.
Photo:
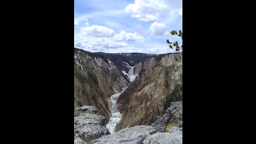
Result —
[[104, 120], [93, 106], [77, 108], [74, 143], [182, 143], [182, 101], [172, 102], [166, 113], [151, 126], [127, 127], [110, 134]]

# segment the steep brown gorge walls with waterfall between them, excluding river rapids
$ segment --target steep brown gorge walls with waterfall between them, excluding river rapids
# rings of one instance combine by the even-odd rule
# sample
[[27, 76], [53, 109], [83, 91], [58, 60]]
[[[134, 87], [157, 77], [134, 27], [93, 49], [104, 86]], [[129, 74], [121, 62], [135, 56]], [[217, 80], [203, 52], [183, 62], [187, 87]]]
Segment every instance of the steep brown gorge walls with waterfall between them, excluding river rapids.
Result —
[[106, 117], [107, 124], [111, 117], [110, 97], [123, 87], [128, 88], [117, 98], [122, 118], [116, 131], [150, 125], [171, 101], [182, 100], [182, 53], [92, 54], [75, 49], [74, 108], [94, 106]]

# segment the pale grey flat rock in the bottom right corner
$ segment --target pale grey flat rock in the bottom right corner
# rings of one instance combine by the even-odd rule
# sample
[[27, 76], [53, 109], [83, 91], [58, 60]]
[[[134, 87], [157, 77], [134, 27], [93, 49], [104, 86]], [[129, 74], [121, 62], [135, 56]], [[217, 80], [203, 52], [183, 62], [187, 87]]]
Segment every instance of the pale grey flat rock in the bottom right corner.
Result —
[[142, 143], [182, 143], [182, 133], [165, 133], [165, 132], [158, 132], [152, 135], [149, 135]]

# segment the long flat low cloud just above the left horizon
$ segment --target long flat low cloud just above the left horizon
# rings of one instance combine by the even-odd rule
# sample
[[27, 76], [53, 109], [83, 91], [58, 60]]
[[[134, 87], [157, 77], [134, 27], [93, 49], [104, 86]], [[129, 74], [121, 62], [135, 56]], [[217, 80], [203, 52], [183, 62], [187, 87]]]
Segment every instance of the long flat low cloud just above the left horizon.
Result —
[[111, 39], [100, 38], [98, 41], [92, 43], [93, 46], [101, 46], [102, 48], [117, 49], [119, 47], [127, 46], [126, 43], [114, 42]]

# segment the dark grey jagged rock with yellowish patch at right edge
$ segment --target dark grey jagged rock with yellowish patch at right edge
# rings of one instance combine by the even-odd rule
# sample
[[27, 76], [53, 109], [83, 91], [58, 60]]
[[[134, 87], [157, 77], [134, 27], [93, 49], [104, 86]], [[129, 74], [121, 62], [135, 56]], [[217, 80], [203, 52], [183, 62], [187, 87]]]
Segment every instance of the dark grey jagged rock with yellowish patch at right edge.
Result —
[[158, 132], [182, 131], [182, 101], [171, 102], [171, 106], [151, 126]]

